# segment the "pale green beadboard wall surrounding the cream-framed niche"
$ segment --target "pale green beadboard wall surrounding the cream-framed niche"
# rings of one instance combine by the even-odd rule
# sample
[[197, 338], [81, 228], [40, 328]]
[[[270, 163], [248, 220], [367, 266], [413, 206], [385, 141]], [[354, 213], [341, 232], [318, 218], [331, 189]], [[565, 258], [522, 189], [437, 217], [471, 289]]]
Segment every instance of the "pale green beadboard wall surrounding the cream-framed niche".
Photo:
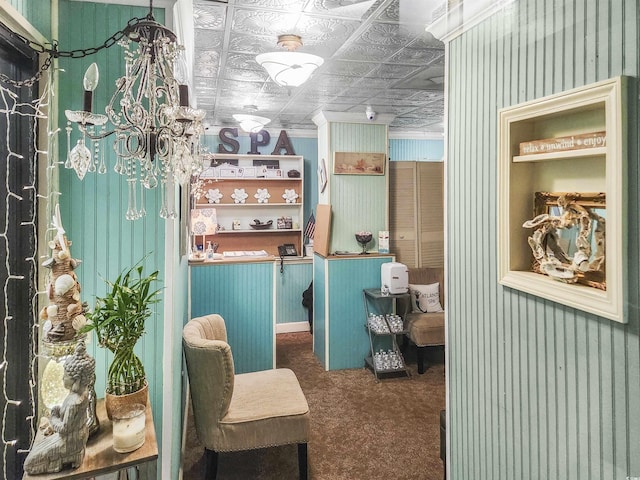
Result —
[[[519, 0], [449, 44], [451, 480], [640, 477], [637, 91], [626, 325], [498, 284], [498, 110], [640, 71], [637, 0]], [[634, 83], [637, 83], [634, 82]]]

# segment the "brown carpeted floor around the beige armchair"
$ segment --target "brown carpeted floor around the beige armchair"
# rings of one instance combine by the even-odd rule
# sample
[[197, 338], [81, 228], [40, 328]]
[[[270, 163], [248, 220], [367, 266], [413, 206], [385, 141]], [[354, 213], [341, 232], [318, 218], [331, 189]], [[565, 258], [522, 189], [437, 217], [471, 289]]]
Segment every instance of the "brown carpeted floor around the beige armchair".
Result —
[[[427, 354], [418, 375], [415, 347], [406, 352], [411, 378], [376, 383], [364, 368], [325, 371], [312, 352], [309, 333], [277, 336], [278, 367], [297, 375], [311, 411], [310, 480], [440, 480], [440, 410], [445, 405], [444, 352]], [[204, 478], [203, 447], [187, 420], [183, 458], [187, 480]], [[219, 480], [297, 479], [295, 445], [223, 453]]]

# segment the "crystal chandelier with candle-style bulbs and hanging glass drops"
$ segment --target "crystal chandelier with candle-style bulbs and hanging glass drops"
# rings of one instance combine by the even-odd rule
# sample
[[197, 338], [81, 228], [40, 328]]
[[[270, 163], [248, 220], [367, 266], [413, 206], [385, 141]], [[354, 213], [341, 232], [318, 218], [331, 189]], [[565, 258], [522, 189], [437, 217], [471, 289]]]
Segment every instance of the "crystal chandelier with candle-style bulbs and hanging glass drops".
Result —
[[[124, 50], [125, 73], [116, 81], [106, 115], [93, 113], [92, 95], [98, 84], [98, 67], [92, 64], [84, 77], [84, 107], [66, 110], [67, 161], [78, 178], [87, 172], [106, 173], [103, 141], [114, 134], [116, 173], [126, 177], [128, 207], [125, 217], [146, 214], [144, 190], [160, 187], [162, 218], [175, 218], [167, 192], [185, 185], [200, 172], [200, 136], [204, 112], [189, 107], [184, 47], [175, 34], [155, 21], [152, 14], [133, 19], [117, 42]], [[117, 34], [116, 34], [117, 35]], [[112, 36], [112, 38], [114, 38]], [[111, 129], [107, 129], [107, 122]], [[81, 138], [71, 147], [72, 124]], [[86, 145], [87, 138], [93, 144]]]

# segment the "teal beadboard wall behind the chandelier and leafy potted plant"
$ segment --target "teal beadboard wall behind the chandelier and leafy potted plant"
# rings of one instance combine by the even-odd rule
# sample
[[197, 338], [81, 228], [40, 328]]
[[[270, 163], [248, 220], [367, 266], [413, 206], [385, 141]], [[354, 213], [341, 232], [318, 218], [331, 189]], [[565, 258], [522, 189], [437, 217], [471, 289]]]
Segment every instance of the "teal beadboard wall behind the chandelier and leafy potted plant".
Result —
[[[133, 17], [144, 17], [148, 8], [102, 3], [59, 2], [59, 40], [64, 49], [86, 48], [101, 45], [111, 34], [126, 26]], [[156, 19], [164, 21], [164, 10], [154, 10]], [[60, 59], [58, 101], [61, 117], [59, 123], [66, 126], [65, 109], [81, 109], [83, 101], [82, 78], [86, 68], [96, 62], [100, 68], [100, 83], [95, 92], [96, 112], [102, 112], [113, 93], [115, 80], [122, 75], [122, 49], [113, 46], [82, 59]], [[73, 135], [72, 142], [79, 136]], [[137, 221], [125, 219], [127, 188], [123, 177], [113, 173], [115, 164], [107, 139], [103, 149], [109, 168], [107, 175], [88, 173], [80, 181], [73, 170], [60, 169], [60, 208], [68, 238], [73, 242], [71, 252], [83, 261], [77, 270], [82, 286], [82, 300], [90, 308], [96, 295], [106, 293], [103, 279], [114, 280], [128, 266], [150, 254], [145, 262], [145, 272], [159, 270], [163, 287], [165, 258], [165, 222], [158, 216], [159, 189], [147, 192], [147, 216]], [[66, 159], [66, 135], [64, 129], [58, 135], [60, 159]], [[175, 280], [175, 279], [174, 279]], [[159, 447], [162, 445], [163, 421], [163, 303], [157, 304], [154, 315], [147, 320], [146, 333], [138, 342], [136, 352], [141, 357], [149, 382], [149, 395]], [[94, 343], [89, 352], [96, 359], [96, 392], [104, 394], [105, 372], [111, 354]], [[178, 359], [178, 362], [181, 360]], [[178, 363], [179, 364], [179, 363]], [[156, 366], [160, 366], [156, 368]], [[179, 383], [179, 367], [176, 371]]]

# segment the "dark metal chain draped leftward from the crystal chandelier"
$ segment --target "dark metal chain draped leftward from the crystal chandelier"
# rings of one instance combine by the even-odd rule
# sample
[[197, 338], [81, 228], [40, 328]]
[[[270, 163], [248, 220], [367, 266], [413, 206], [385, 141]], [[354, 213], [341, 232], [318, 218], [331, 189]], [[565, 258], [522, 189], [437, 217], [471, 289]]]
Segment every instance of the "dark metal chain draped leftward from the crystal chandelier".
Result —
[[69, 51], [59, 50], [57, 40], [53, 40], [51, 43], [46, 43], [42, 45], [33, 40], [29, 40], [28, 38], [24, 37], [23, 35], [20, 35], [19, 33], [11, 32], [12, 37], [20, 40], [22, 43], [28, 46], [35, 53], [39, 55], [46, 53], [48, 56], [42, 62], [40, 69], [31, 78], [28, 78], [26, 80], [14, 80], [12, 78], [9, 78], [4, 73], [0, 73], [0, 82], [7, 85], [13, 85], [14, 87], [18, 87], [18, 88], [31, 87], [36, 82], [38, 82], [40, 78], [42, 78], [42, 75], [44, 74], [44, 72], [51, 67], [51, 63], [53, 62], [54, 58], [84, 58], [84, 57], [88, 57], [89, 55], [94, 55], [98, 53], [100, 50], [110, 48], [116, 43], [118, 43], [123, 37], [128, 35], [128, 32], [131, 31], [132, 27], [135, 27], [141, 21], [147, 20], [147, 19], [148, 19], [148, 16], [145, 18], [139, 18], [139, 17], [132, 18], [127, 22], [127, 26], [125, 28], [123, 28], [122, 30], [118, 30], [116, 33], [111, 35], [102, 43], [102, 45], [99, 45], [97, 47], [79, 48], [76, 50], [69, 50]]

